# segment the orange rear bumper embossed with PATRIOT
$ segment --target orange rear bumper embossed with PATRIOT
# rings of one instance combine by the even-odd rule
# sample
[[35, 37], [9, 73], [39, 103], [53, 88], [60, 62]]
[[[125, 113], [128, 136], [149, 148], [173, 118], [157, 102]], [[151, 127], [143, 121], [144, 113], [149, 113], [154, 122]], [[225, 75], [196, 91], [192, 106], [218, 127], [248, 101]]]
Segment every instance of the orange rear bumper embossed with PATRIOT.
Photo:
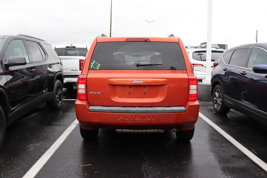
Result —
[[188, 101], [185, 112], [172, 113], [116, 113], [91, 112], [88, 101], [76, 100], [76, 117], [81, 128], [91, 129], [192, 129], [197, 122], [198, 101]]

